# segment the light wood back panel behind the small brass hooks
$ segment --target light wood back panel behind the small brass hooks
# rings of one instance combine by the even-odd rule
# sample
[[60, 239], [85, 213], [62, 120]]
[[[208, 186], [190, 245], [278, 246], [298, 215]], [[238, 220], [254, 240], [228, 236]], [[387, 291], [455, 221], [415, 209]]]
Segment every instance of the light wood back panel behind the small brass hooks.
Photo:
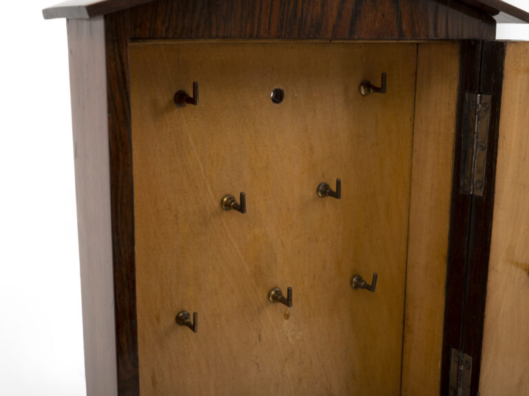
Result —
[[[130, 45], [142, 395], [399, 393], [416, 53]], [[388, 93], [362, 98], [382, 72]], [[194, 80], [200, 104], [176, 108]], [[336, 177], [342, 199], [317, 197]], [[247, 214], [220, 208], [242, 190]], [[373, 272], [374, 294], [351, 289]], [[291, 309], [267, 300], [276, 286]]]

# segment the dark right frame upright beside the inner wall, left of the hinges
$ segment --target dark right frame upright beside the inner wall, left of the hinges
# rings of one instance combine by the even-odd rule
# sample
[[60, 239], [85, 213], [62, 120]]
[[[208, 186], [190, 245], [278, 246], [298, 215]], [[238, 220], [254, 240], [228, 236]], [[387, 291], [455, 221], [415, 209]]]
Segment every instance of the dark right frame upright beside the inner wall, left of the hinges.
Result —
[[450, 232], [448, 235], [448, 264], [446, 268], [446, 300], [444, 311], [443, 359], [441, 369], [441, 395], [448, 395], [451, 349], [459, 349], [463, 326], [466, 263], [468, 259], [468, 233], [472, 197], [461, 194], [461, 140], [464, 124], [465, 92], [479, 91], [481, 41], [463, 41], [459, 50], [459, 89], [457, 100], [457, 127], [454, 148], [452, 203]]

